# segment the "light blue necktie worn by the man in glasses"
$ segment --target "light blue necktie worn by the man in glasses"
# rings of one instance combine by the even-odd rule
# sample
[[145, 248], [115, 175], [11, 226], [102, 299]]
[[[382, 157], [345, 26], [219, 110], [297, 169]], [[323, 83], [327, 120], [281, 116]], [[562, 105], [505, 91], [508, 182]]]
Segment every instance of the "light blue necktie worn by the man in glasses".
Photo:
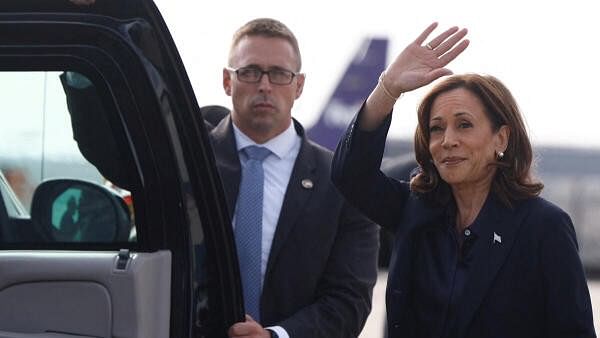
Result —
[[271, 151], [264, 147], [242, 149], [248, 156], [242, 171], [242, 182], [235, 215], [235, 243], [242, 275], [246, 313], [260, 323], [260, 295], [262, 292], [262, 211], [263, 160]]

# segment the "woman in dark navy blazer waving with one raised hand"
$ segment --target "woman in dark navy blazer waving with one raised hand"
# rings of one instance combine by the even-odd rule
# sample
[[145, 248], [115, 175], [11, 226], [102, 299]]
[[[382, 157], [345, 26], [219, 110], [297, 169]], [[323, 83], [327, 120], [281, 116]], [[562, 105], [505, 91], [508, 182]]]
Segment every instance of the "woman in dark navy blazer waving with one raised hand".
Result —
[[[569, 216], [538, 197], [517, 104], [496, 78], [442, 80], [418, 109], [410, 183], [379, 170], [396, 99], [449, 75], [467, 47], [432, 24], [382, 73], [340, 141], [332, 178], [395, 233], [388, 336], [595, 337]], [[461, 41], [462, 40], [462, 41]]]

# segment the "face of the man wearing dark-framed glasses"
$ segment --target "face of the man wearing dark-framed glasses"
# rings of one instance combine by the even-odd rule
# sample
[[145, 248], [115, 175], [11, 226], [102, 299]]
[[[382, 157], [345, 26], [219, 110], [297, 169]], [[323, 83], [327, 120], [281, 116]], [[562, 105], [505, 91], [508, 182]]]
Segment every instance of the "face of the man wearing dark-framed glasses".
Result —
[[[246, 36], [231, 51], [233, 69], [297, 72], [299, 60], [292, 45], [282, 38]], [[240, 80], [233, 71], [223, 70], [223, 88], [231, 96], [233, 123], [257, 143], [264, 143], [286, 130], [291, 123], [294, 101], [302, 94], [304, 75], [290, 84], [272, 84], [267, 74], [259, 82]]]

